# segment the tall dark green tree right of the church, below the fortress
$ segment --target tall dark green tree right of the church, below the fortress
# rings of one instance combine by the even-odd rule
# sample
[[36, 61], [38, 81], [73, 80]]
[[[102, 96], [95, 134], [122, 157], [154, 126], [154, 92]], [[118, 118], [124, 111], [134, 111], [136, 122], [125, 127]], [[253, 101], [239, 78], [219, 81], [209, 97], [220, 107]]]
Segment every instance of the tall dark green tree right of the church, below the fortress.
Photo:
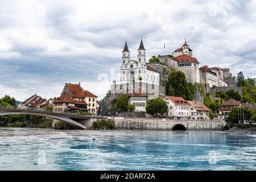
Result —
[[188, 84], [185, 74], [181, 71], [168, 74], [166, 90], [168, 96], [183, 97], [185, 100], [193, 100], [195, 94], [195, 86]]

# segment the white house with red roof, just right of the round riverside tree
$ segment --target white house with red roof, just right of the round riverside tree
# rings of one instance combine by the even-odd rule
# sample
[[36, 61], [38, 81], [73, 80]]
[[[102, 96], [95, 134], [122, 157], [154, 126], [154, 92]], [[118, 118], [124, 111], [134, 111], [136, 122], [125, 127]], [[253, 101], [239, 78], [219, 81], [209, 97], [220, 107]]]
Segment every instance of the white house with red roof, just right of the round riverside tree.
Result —
[[191, 105], [183, 97], [166, 96], [164, 101], [166, 101], [168, 106], [168, 111], [164, 114], [165, 116], [175, 119], [191, 117]]

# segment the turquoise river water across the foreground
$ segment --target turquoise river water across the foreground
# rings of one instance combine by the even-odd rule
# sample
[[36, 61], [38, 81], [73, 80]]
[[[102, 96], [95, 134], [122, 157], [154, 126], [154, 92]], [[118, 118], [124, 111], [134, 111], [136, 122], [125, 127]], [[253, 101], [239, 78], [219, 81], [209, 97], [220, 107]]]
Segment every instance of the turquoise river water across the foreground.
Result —
[[0, 170], [10, 169], [255, 170], [256, 135], [0, 128]]

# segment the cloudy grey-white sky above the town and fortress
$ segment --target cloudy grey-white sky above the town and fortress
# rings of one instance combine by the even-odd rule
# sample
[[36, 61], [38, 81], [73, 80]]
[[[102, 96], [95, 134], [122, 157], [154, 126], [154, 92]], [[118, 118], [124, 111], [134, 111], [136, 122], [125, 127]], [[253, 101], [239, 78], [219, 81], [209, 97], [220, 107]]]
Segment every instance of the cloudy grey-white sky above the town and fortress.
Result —
[[103, 98], [143, 38], [146, 59], [184, 39], [201, 66], [256, 78], [256, 1], [0, 0], [0, 97], [59, 97], [66, 82]]

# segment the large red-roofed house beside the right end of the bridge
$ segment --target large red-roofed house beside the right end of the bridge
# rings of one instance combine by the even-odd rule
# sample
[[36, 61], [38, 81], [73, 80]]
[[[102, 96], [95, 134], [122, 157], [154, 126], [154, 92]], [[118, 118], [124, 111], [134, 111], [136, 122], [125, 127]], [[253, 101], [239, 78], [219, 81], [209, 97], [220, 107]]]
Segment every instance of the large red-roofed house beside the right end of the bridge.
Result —
[[53, 101], [53, 111], [63, 113], [65, 111], [88, 111], [96, 114], [97, 96], [88, 90], [84, 90], [80, 83], [66, 83], [60, 97]]

